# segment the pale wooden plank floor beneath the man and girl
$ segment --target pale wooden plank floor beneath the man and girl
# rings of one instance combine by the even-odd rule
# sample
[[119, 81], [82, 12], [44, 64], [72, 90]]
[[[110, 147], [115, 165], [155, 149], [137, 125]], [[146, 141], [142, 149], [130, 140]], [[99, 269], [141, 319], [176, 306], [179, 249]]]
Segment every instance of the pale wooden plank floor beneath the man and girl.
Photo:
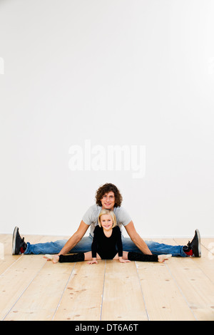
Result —
[[[54, 239], [25, 237], [32, 243]], [[0, 242], [0, 320], [214, 320], [214, 239], [202, 239], [201, 258], [98, 265], [12, 256], [11, 235], [1, 234]]]

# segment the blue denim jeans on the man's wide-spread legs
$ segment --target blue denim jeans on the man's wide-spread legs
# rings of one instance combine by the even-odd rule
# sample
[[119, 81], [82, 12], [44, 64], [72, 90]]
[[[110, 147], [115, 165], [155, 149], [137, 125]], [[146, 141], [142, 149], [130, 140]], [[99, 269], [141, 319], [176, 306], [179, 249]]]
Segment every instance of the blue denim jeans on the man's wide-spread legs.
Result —
[[[78, 244], [76, 244], [70, 253], [88, 252], [91, 251], [91, 243], [93, 237], [89, 234], [88, 237], [83, 237]], [[30, 244], [27, 242], [27, 248], [24, 254], [58, 254], [63, 246], [66, 244], [66, 239], [58, 239], [55, 242]], [[122, 237], [123, 250], [127, 252], [141, 252], [136, 244], [134, 244], [129, 237]], [[152, 254], [172, 254], [173, 256], [186, 257], [183, 251], [183, 245], [169, 245], [153, 241], [145, 241]]]

